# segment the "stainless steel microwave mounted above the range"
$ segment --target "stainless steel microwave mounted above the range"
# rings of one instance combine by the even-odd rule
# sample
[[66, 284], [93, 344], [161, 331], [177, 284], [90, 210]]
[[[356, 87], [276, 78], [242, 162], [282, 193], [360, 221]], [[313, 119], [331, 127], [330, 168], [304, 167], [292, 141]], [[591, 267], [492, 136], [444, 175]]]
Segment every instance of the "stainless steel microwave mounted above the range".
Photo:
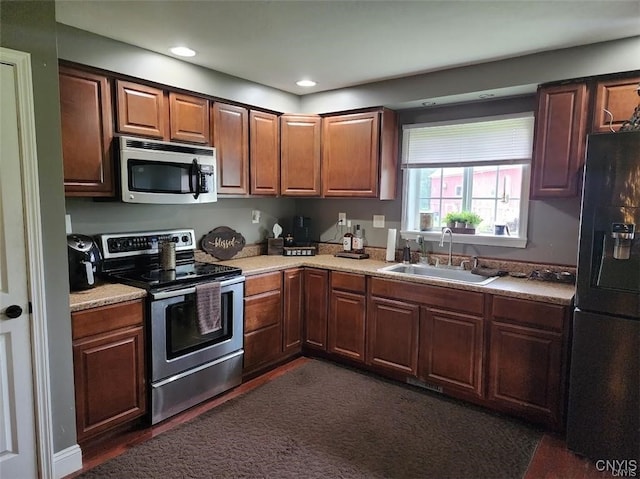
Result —
[[218, 200], [215, 148], [119, 138], [122, 201], [189, 204]]

